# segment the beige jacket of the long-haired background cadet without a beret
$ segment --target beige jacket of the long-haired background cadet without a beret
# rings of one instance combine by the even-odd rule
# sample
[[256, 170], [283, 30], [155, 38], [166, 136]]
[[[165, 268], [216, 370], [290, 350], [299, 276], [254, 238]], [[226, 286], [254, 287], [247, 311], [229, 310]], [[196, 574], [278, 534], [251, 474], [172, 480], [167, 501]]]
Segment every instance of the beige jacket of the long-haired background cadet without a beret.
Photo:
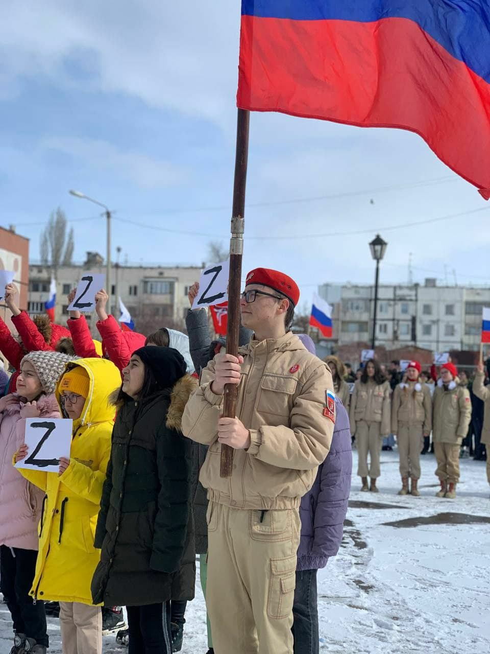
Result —
[[350, 431], [355, 436], [356, 423], [381, 422], [380, 435], [389, 436], [390, 427], [390, 400], [391, 388], [389, 382], [378, 385], [374, 380], [363, 384], [358, 379], [354, 386], [354, 392], [350, 398]]

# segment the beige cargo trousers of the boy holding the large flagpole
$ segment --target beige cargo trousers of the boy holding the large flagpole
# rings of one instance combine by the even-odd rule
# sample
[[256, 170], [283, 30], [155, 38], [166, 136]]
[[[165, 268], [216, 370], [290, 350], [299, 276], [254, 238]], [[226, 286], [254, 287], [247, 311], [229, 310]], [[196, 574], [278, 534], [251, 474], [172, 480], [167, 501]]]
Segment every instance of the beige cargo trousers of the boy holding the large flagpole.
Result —
[[208, 609], [216, 654], [292, 654], [298, 509], [208, 504]]

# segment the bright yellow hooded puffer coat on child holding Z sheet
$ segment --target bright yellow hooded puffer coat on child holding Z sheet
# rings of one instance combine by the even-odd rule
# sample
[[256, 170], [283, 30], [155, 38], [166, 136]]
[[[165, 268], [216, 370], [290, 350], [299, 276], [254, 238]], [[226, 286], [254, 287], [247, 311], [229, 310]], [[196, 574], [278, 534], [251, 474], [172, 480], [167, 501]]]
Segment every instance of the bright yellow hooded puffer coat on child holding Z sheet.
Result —
[[[68, 369], [74, 366], [88, 372], [90, 394], [82, 416], [73, 422], [69, 467], [61, 477], [54, 472], [19, 472], [46, 491], [31, 595], [41, 600], [91, 604], [90, 583], [101, 556], [93, 547], [93, 539], [116, 412], [108, 396], [120, 387], [121, 373], [106, 359], [79, 359], [67, 364]], [[56, 397], [59, 401], [59, 387]]]

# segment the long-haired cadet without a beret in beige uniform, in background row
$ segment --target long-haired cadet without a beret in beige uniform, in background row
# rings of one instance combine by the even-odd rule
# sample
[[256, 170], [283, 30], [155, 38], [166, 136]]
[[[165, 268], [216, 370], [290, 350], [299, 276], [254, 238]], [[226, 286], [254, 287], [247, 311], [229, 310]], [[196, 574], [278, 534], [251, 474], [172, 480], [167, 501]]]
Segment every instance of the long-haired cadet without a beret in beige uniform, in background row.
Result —
[[[390, 428], [390, 393], [389, 382], [385, 379], [380, 366], [374, 359], [369, 359], [354, 386], [350, 399], [350, 430], [357, 444], [357, 474], [363, 481], [361, 490], [379, 492], [376, 479], [381, 474], [380, 452], [385, 436]], [[370, 467], [367, 455], [370, 456]], [[368, 486], [368, 476], [371, 485]]]

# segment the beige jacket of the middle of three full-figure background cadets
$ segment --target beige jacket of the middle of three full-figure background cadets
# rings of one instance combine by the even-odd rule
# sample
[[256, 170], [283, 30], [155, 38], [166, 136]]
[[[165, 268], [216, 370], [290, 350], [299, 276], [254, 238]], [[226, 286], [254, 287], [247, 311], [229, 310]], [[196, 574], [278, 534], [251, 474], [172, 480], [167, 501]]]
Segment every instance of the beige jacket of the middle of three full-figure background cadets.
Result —
[[399, 422], [421, 424], [424, 436], [432, 429], [432, 398], [427, 384], [406, 381], [395, 387], [391, 400], [391, 433], [398, 434]]

